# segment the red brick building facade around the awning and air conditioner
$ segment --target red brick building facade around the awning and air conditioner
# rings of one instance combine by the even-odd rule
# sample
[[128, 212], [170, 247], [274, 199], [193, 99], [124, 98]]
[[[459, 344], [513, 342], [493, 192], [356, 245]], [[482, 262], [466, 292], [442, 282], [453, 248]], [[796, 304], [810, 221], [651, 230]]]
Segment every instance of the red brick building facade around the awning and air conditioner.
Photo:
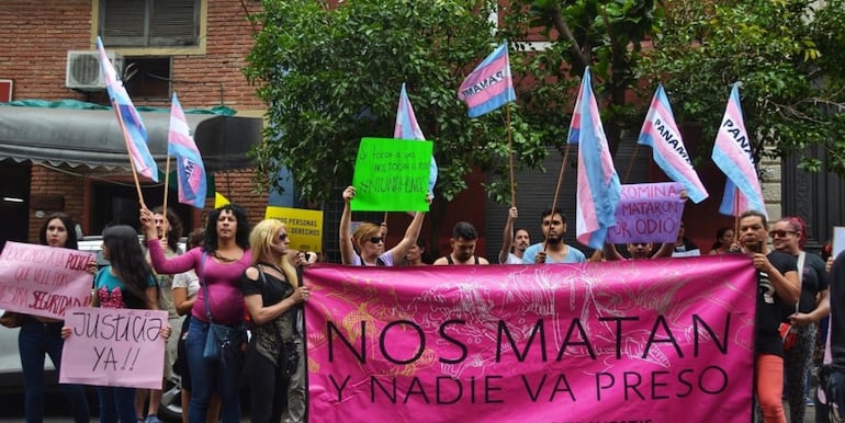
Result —
[[[0, 52], [0, 79], [13, 81], [13, 101], [79, 100], [108, 104], [104, 90], [76, 91], [65, 84], [67, 52], [95, 49], [103, 1], [108, 0], [13, 0], [3, 3], [3, 8], [0, 8], [0, 34], [10, 43]], [[185, 3], [184, 0], [181, 2]], [[185, 110], [224, 105], [235, 110], [237, 115], [263, 116], [264, 106], [255, 95], [255, 87], [247, 82], [241, 72], [256, 31], [247, 18], [260, 11], [260, 2], [190, 2], [199, 7], [196, 14], [200, 23], [195, 45], [123, 48], [110, 46], [109, 38], [104, 37], [106, 50], [122, 55], [125, 64], [145, 58], [169, 61], [167, 82], [170, 90], [179, 93]], [[134, 94], [129, 89], [129, 94], [138, 107], [169, 107], [172, 91], [166, 95], [143, 96]], [[234, 139], [227, 141], [237, 142]], [[164, 168], [164, 163], [158, 164]], [[12, 214], [10, 216], [16, 216], [13, 221], [5, 221], [5, 225], [29, 230], [24, 239], [21, 239], [20, 231], [18, 235], [2, 237], [18, 241], [37, 241], [37, 230], [44, 224], [44, 216], [52, 211], [71, 215], [80, 222], [86, 235], [99, 233], [101, 225], [94, 222], [92, 211], [101, 206], [99, 202], [103, 201], [103, 195], [94, 195], [95, 186], [133, 184], [127, 169], [72, 167], [60, 160], [33, 163], [11, 159], [0, 161], [0, 167], [11, 172], [9, 178], [0, 181], [0, 186], [5, 185], [4, 192], [13, 188], [12, 185], [22, 184], [24, 178], [30, 181], [24, 203], [16, 205], [24, 207], [25, 214]], [[252, 221], [263, 217], [267, 195], [252, 193], [255, 185], [249, 169], [216, 172], [214, 182], [217, 192], [248, 209]], [[149, 183], [144, 185], [155, 186]], [[147, 198], [146, 203], [155, 206], [161, 199]], [[206, 201], [206, 209], [210, 206], [213, 206], [213, 198]], [[4, 205], [3, 208], [8, 207]], [[192, 220], [191, 225], [196, 226], [201, 221], [201, 213], [188, 213], [193, 215], [189, 219]], [[137, 226], [137, 221], [110, 222]]]

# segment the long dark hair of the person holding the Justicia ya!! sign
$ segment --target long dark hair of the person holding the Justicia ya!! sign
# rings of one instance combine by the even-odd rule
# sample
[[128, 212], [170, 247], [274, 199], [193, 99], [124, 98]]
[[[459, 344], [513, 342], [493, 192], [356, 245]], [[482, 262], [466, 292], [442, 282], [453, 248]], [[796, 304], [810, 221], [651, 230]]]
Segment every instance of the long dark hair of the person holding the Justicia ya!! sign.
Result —
[[140, 250], [138, 233], [135, 228], [127, 225], [105, 228], [103, 244], [114, 274], [123, 282], [126, 290], [142, 301], [140, 308], [144, 308], [146, 289], [153, 277], [153, 268], [144, 260], [144, 252]]

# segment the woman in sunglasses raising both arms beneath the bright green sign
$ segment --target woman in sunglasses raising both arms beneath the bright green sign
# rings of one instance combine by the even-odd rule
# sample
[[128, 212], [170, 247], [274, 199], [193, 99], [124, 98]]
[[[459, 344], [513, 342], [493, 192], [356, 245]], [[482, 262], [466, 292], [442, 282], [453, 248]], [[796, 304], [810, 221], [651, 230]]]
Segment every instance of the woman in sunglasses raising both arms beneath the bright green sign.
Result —
[[[405, 254], [410, 249], [422, 228], [422, 219], [426, 217], [424, 211], [417, 211], [414, 220], [405, 230], [405, 237], [396, 247], [384, 251], [383, 230], [380, 226], [370, 222], [361, 224], [354, 233], [349, 233], [352, 225], [352, 209], [349, 202], [356, 196], [354, 186], [347, 186], [343, 190], [343, 214], [340, 216], [340, 259], [343, 264], [353, 266], [392, 266], [394, 263], [402, 262]], [[429, 204], [431, 198], [427, 198]], [[356, 252], [356, 248], [358, 252]]]

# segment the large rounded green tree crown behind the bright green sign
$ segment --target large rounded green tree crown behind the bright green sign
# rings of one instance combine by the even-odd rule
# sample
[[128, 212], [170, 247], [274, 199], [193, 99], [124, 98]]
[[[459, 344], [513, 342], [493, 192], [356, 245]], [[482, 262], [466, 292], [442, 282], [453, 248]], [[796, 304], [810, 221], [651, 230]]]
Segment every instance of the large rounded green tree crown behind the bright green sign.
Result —
[[[255, 151], [263, 183], [290, 169], [298, 194], [316, 204], [351, 182], [362, 137], [392, 137], [399, 87], [408, 96], [440, 168], [436, 193], [451, 199], [474, 167], [508, 198], [505, 107], [470, 119], [458, 100], [464, 77], [495, 48], [489, 4], [467, 0], [264, 0], [247, 77], [268, 103], [266, 141]], [[511, 104], [518, 164], [548, 153]]]

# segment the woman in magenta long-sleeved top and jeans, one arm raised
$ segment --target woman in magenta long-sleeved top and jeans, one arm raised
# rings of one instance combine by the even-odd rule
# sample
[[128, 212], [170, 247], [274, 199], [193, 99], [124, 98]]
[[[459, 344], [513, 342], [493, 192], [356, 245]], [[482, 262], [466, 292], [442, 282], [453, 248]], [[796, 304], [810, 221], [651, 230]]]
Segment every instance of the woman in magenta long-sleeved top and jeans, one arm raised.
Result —
[[[240, 275], [249, 266], [249, 221], [244, 208], [228, 204], [209, 215], [202, 247], [185, 254], [166, 258], [156, 238], [153, 213], [140, 210], [140, 221], [146, 231], [147, 248], [156, 272], [174, 274], [193, 270], [200, 277], [200, 291], [191, 309], [191, 323], [185, 335], [188, 366], [191, 373], [191, 423], [205, 422], [205, 413], [212, 392], [221, 397], [223, 423], [240, 421], [238, 375], [243, 364], [240, 348], [221, 359], [203, 356], [209, 333], [209, 315], [215, 324], [240, 328], [244, 324], [244, 296], [240, 293]], [[206, 311], [207, 304], [207, 311]], [[239, 343], [237, 340], [232, 341]]]

